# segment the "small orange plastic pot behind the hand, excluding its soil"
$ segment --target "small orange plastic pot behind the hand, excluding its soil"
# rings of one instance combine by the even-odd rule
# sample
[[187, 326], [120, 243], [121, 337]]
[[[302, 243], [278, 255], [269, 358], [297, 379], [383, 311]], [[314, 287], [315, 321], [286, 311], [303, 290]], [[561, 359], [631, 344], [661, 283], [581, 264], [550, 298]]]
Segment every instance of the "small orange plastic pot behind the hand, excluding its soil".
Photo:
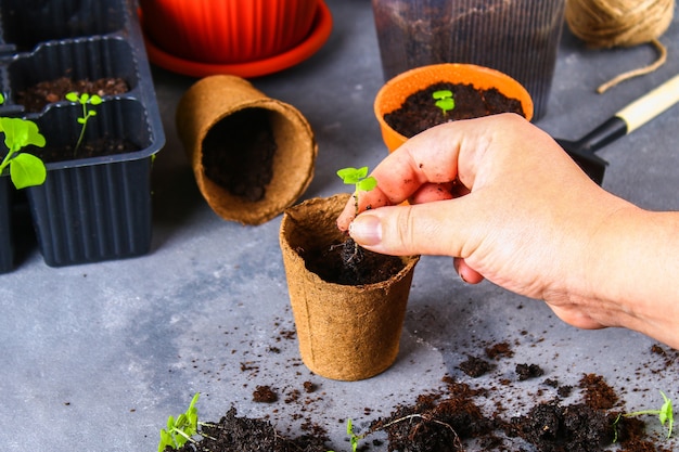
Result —
[[433, 83], [445, 81], [451, 83], [470, 83], [477, 89], [496, 88], [511, 99], [517, 99], [526, 115], [533, 118], [533, 100], [528, 91], [512, 77], [488, 67], [473, 64], [434, 64], [407, 70], [388, 80], [377, 92], [374, 102], [374, 113], [382, 139], [389, 152], [394, 152], [408, 139], [394, 130], [385, 120], [384, 115], [399, 108], [406, 99]]

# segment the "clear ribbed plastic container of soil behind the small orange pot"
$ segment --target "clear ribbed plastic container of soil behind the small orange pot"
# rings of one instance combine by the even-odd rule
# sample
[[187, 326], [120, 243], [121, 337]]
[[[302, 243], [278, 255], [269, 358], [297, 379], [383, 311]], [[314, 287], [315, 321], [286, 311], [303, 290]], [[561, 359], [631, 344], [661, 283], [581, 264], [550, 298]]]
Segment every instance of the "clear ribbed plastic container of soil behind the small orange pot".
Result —
[[565, 0], [372, 0], [384, 77], [438, 63], [490, 67], [547, 111]]

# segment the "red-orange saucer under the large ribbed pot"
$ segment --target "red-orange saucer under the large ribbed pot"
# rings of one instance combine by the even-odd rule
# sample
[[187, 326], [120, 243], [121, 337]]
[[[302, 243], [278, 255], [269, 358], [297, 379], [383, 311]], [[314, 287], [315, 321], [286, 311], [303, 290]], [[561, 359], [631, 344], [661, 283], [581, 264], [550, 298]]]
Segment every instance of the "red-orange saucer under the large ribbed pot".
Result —
[[[143, 16], [139, 13], [143, 30]], [[149, 60], [164, 69], [192, 77], [207, 77], [217, 74], [231, 74], [243, 78], [259, 77], [286, 69], [310, 57], [325, 43], [332, 31], [332, 15], [323, 1], [319, 1], [318, 12], [309, 36], [296, 47], [264, 60], [246, 63], [213, 64], [194, 62], [175, 56], [161, 50], [144, 33], [144, 43]]]

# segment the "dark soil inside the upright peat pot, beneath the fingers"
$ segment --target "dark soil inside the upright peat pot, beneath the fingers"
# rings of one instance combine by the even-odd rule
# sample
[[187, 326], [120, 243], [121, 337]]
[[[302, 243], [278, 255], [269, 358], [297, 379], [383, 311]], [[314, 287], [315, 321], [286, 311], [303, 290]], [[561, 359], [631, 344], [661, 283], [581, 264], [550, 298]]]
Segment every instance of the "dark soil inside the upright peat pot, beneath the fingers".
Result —
[[307, 269], [323, 281], [344, 285], [386, 281], [406, 267], [399, 257], [370, 251], [351, 238], [325, 249], [305, 250], [303, 258]]

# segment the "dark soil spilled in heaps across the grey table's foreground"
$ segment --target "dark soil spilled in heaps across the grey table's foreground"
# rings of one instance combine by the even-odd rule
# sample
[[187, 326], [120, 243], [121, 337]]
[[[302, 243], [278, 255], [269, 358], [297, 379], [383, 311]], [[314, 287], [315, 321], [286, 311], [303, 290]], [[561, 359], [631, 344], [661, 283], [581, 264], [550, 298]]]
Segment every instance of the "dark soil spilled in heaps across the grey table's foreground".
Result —
[[[654, 346], [654, 349], [662, 349]], [[662, 349], [664, 350], [664, 349]], [[484, 349], [479, 350], [484, 353]], [[656, 352], [655, 350], [653, 351]], [[670, 351], [669, 353], [674, 353]], [[513, 356], [508, 343], [492, 345], [485, 349], [485, 356], [474, 362], [508, 360]], [[679, 357], [679, 354], [677, 354]], [[675, 362], [676, 360], [672, 360]], [[670, 362], [668, 365], [672, 364]], [[526, 376], [526, 370], [529, 376]], [[538, 364], [516, 365], [515, 380], [541, 378]], [[414, 403], [396, 406], [387, 416], [371, 422], [359, 436], [358, 451], [387, 452], [591, 452], [617, 450], [623, 452], [669, 452], [662, 443], [652, 441], [645, 434], [645, 424], [638, 417], [622, 417], [617, 425], [617, 442], [613, 444], [615, 431], [613, 422], [624, 404], [602, 376], [584, 374], [577, 387], [560, 386], [558, 376], [550, 376], [537, 383], [540, 389], [527, 400], [537, 400], [538, 395], [553, 391], [553, 395], [533, 405], [523, 405], [523, 415], [508, 416], [503, 406], [503, 391], [511, 386], [512, 378], [498, 377], [497, 382], [486, 382], [473, 388], [469, 383], [457, 382], [446, 375], [443, 386], [428, 393], [418, 396]], [[266, 388], [273, 391], [271, 388]], [[304, 383], [302, 391], [316, 391], [317, 385]], [[302, 427], [304, 435], [293, 438], [277, 430], [267, 418], [238, 417], [235, 408], [229, 409], [218, 423], [207, 423], [202, 427], [205, 434], [195, 442], [188, 442], [180, 452], [328, 452], [348, 451], [350, 445], [329, 444], [328, 432], [315, 423], [313, 413], [303, 402], [300, 390], [284, 399], [285, 403], [300, 403], [307, 414]], [[578, 399], [564, 404], [562, 397], [579, 391]], [[261, 387], [253, 392], [257, 401]], [[550, 392], [552, 393], [552, 392]], [[320, 396], [322, 400], [322, 396]], [[273, 403], [272, 398], [259, 400]], [[276, 398], [278, 402], [282, 401]], [[523, 398], [522, 398], [523, 400]], [[488, 406], [487, 402], [491, 402]], [[524, 403], [524, 402], [521, 402]], [[528, 403], [528, 402], [526, 402]], [[366, 409], [369, 413], [369, 409]], [[490, 413], [488, 413], [490, 411]], [[320, 416], [319, 416], [320, 417]], [[386, 439], [371, 439], [372, 434], [386, 434]], [[382, 435], [384, 438], [384, 435]], [[171, 449], [166, 449], [169, 452]]]

